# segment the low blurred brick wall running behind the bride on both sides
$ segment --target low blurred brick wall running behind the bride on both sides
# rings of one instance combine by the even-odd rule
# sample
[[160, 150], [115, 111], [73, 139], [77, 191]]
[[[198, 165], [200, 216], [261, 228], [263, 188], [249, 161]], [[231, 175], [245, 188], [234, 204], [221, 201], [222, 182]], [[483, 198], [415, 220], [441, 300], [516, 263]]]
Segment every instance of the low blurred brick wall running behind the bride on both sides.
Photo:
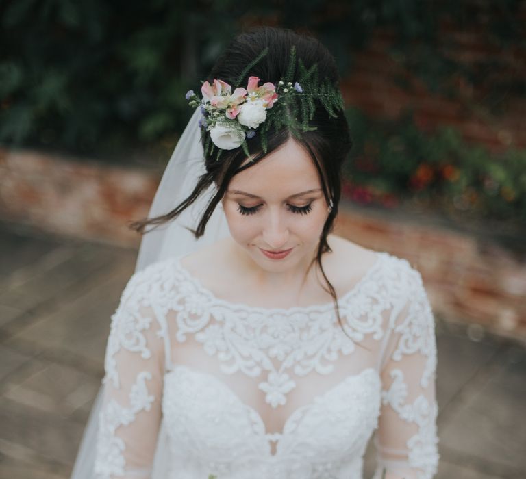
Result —
[[[137, 247], [129, 220], [147, 215], [159, 171], [0, 150], [0, 219], [55, 234]], [[471, 235], [394, 211], [342, 202], [335, 232], [408, 259], [434, 312], [526, 342], [524, 259]]]

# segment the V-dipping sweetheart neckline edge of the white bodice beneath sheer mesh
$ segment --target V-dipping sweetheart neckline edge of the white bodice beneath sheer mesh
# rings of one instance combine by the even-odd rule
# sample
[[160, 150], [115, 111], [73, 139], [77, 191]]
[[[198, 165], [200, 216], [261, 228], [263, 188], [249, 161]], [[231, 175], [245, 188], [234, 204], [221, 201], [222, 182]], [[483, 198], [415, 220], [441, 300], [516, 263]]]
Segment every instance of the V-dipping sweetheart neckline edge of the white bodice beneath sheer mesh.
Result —
[[[336, 391], [337, 389], [339, 389], [343, 385], [349, 383], [351, 380], [355, 380], [355, 379], [358, 379], [358, 378], [362, 377], [362, 375], [365, 372], [373, 372], [375, 374], [375, 378], [377, 378], [377, 381], [379, 382], [379, 385], [381, 386], [381, 378], [380, 378], [378, 372], [375, 370], [375, 368], [372, 367], [372, 366], [366, 367], [364, 370], [360, 371], [359, 373], [349, 374], [348, 376], [345, 376], [345, 378], [343, 378], [339, 383], [336, 383], [336, 385], [334, 385], [334, 386], [330, 387], [329, 389], [327, 389], [327, 391], [325, 391], [325, 392], [323, 392], [321, 394], [316, 394], [316, 396], [314, 396], [314, 398], [312, 398], [312, 400], [310, 402], [308, 402], [307, 404], [303, 404], [303, 406], [299, 406], [296, 409], [294, 409], [292, 411], [292, 413], [290, 413], [290, 415], [288, 415], [288, 417], [285, 419], [283, 427], [281, 428], [281, 432], [267, 432], [266, 424], [265, 424], [263, 418], [261, 417], [260, 413], [256, 409], [254, 409], [252, 406], [250, 406], [249, 404], [247, 404], [244, 401], [242, 401], [241, 398], [238, 396], [238, 394], [233, 389], [231, 389], [231, 387], [229, 387], [229, 385], [227, 385], [226, 383], [223, 383], [223, 381], [220, 380], [217, 376], [214, 376], [214, 374], [210, 374], [210, 373], [207, 373], [207, 372], [203, 372], [203, 371], [197, 370], [197, 369], [195, 369], [193, 367], [190, 367], [190, 366], [188, 366], [186, 364], [174, 365], [173, 368], [170, 371], [167, 371], [167, 372], [164, 373], [164, 376], [166, 377], [169, 374], [173, 374], [173, 373], [177, 372], [177, 370], [183, 370], [183, 371], [186, 370], [186, 372], [190, 372], [191, 374], [195, 374], [197, 376], [203, 376], [205, 378], [208, 378], [209, 380], [214, 381], [214, 383], [216, 385], [218, 384], [225, 391], [227, 391], [227, 393], [229, 393], [229, 395], [231, 395], [236, 400], [236, 402], [238, 402], [238, 404], [240, 404], [240, 406], [243, 409], [246, 409], [247, 411], [249, 411], [249, 417], [251, 417], [252, 421], [253, 421], [254, 418], [257, 419], [259, 425], [264, 430], [263, 437], [266, 440], [266, 444], [268, 445], [268, 453], [269, 453], [269, 456], [272, 459], [277, 459], [278, 456], [280, 455], [280, 447], [279, 447], [279, 445], [281, 443], [281, 440], [287, 435], [286, 430], [288, 428], [288, 425], [292, 422], [292, 420], [296, 419], [298, 417], [298, 415], [301, 416], [303, 413], [305, 413], [305, 411], [308, 411], [309, 409], [312, 409], [319, 401], [327, 398], [327, 396], [329, 396], [329, 394], [334, 393], [334, 391]], [[292, 432], [293, 431], [294, 430], [292, 430]], [[276, 443], [275, 454], [271, 453], [271, 442], [275, 442]]]

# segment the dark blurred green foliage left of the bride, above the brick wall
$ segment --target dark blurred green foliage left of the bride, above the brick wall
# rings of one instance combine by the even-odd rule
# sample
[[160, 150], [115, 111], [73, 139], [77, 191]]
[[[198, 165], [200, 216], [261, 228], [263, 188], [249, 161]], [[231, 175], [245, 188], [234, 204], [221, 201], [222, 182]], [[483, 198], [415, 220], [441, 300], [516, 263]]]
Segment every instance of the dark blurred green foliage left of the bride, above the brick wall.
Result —
[[173, 143], [189, 118], [184, 92], [214, 60], [212, 40], [221, 46], [235, 29], [234, 18], [227, 33], [198, 8], [162, 0], [1, 4], [1, 144], [117, 156]]

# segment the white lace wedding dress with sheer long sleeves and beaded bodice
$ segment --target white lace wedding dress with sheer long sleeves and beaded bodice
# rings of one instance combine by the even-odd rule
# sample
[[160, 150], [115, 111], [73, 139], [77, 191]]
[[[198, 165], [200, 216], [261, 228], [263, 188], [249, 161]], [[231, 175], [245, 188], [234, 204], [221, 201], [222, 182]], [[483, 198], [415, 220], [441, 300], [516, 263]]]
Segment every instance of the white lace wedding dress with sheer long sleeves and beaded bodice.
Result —
[[127, 283], [105, 355], [98, 478], [428, 479], [438, 464], [434, 318], [421, 275], [375, 252], [332, 302], [277, 309], [217, 298], [181, 264]]

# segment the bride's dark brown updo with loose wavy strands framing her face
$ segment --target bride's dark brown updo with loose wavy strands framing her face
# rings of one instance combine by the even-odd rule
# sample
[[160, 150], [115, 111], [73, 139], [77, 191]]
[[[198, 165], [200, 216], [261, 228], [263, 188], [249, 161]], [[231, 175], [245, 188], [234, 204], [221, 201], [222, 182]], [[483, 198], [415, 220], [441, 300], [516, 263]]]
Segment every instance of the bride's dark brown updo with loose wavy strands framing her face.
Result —
[[[232, 89], [236, 88], [238, 85], [233, 85], [232, 83], [236, 81], [245, 67], [268, 47], [267, 55], [247, 72], [240, 85], [246, 85], [248, 78], [252, 75], [259, 77], [262, 83], [270, 81], [277, 85], [279, 79], [286, 74], [290, 47], [292, 45], [296, 47], [296, 72], [298, 71], [298, 59], [303, 61], [305, 68], [310, 68], [312, 65], [317, 64], [319, 78], [327, 78], [336, 88], [339, 88], [338, 69], [336, 68], [334, 57], [321, 42], [313, 36], [298, 34], [290, 29], [277, 27], [253, 27], [236, 36], [221, 57], [218, 58], [206, 80], [212, 83], [214, 79], [221, 79], [229, 83]], [[296, 78], [292, 79], [292, 83], [295, 81]], [[271, 129], [267, 137], [267, 152], [264, 153], [257, 134], [253, 138], [247, 138], [249, 153], [253, 159], [244, 166], [241, 165], [247, 157], [242, 148], [222, 151], [220, 161], [216, 161], [216, 153], [209, 153], [204, 158], [205, 173], [199, 177], [195, 189], [186, 200], [165, 215], [134, 222], [130, 227], [140, 233], [145, 233], [145, 227], [149, 224], [163, 224], [176, 218], [181, 211], [190, 206], [196, 198], [214, 183], [216, 185], [215, 196], [209, 201], [208, 207], [197, 225], [197, 229], [190, 229], [196, 239], [201, 237], [216, 205], [223, 198], [231, 178], [238, 172], [258, 163], [258, 161], [264, 160], [266, 155], [275, 151], [292, 137], [309, 153], [316, 170], [318, 170], [327, 204], [332, 200], [333, 207], [329, 211], [329, 216], [323, 226], [316, 257], [312, 260], [308, 269], [316, 261], [325, 281], [327, 281], [329, 293], [334, 299], [338, 322], [342, 326], [336, 291], [325, 275], [321, 265], [321, 256], [323, 253], [331, 252], [331, 248], [327, 243], [327, 235], [332, 231], [334, 219], [338, 214], [342, 163], [351, 149], [352, 142], [347, 120], [342, 110], [336, 111], [337, 116], [334, 118], [327, 114], [327, 111], [318, 99], [314, 99], [314, 105], [314, 116], [310, 120], [309, 126], [316, 127], [316, 130], [302, 132], [301, 140], [292, 137], [290, 131], [286, 128], [279, 131]], [[204, 140], [204, 135], [202, 135], [201, 140]]]

